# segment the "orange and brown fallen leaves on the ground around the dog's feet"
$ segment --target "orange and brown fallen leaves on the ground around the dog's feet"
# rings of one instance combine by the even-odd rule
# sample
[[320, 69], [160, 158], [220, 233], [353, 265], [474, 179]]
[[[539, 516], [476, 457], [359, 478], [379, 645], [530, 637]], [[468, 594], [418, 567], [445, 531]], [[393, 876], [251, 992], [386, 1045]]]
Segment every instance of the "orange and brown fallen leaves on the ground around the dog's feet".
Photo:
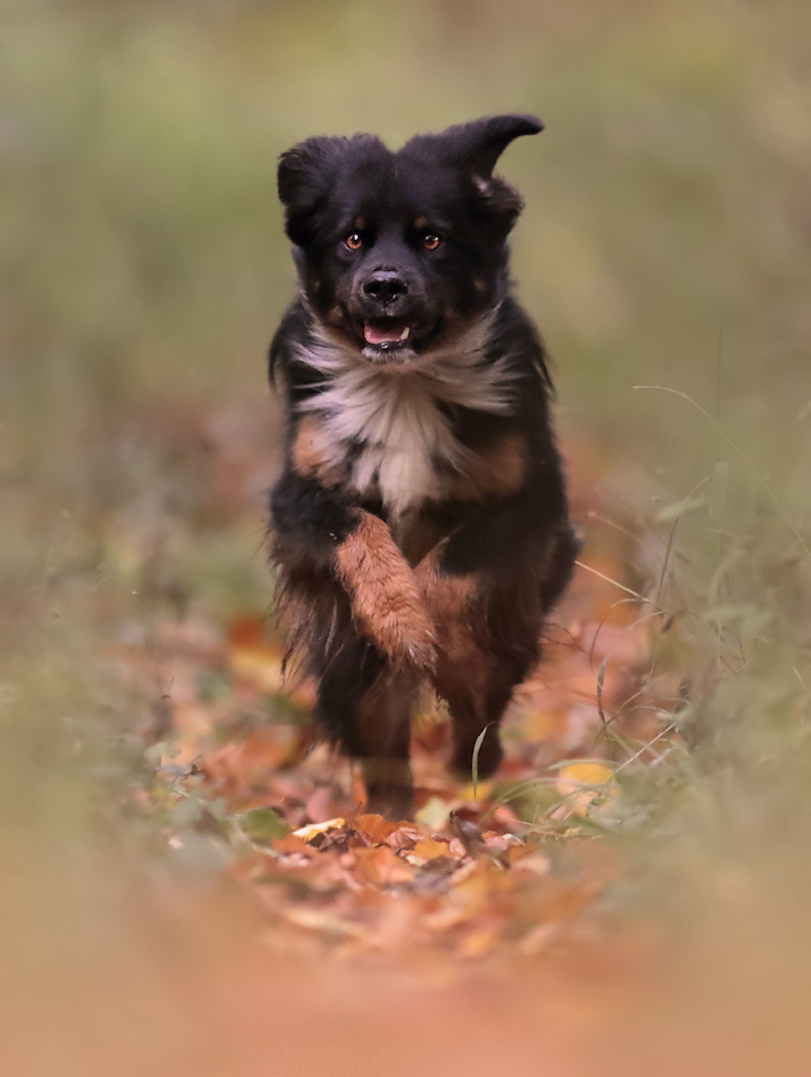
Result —
[[167, 614], [149, 645], [120, 640], [123, 676], [162, 686], [138, 810], [160, 820], [169, 850], [200, 833], [226, 849], [267, 945], [284, 952], [458, 968], [571, 945], [623, 870], [600, 838], [621, 805], [618, 771], [644, 760], [671, 717], [660, 700], [676, 695], [672, 676], [654, 676], [661, 625], [625, 596], [624, 557], [587, 544], [582, 560], [507, 714], [495, 780], [449, 778], [446, 715], [423, 701], [414, 821], [365, 812], [358, 768], [319, 740], [313, 685], [284, 675], [268, 618]]

